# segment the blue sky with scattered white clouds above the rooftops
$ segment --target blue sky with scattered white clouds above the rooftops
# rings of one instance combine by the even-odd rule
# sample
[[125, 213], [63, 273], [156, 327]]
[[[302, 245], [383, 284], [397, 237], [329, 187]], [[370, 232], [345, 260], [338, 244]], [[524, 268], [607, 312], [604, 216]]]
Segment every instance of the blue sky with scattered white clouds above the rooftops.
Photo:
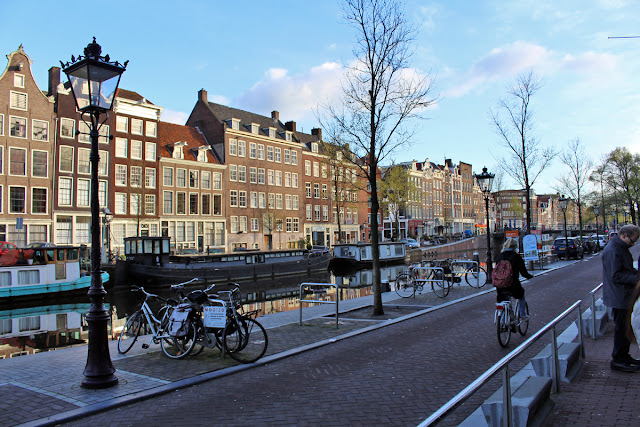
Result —
[[[420, 26], [413, 67], [435, 77], [440, 99], [395, 160], [472, 163], [494, 170], [503, 148], [488, 111], [533, 70], [535, 137], [562, 149], [580, 138], [596, 161], [616, 147], [640, 151], [640, 8], [632, 0], [404, 1]], [[20, 44], [40, 88], [47, 70], [96, 36], [103, 53], [129, 60], [121, 87], [184, 124], [204, 88], [209, 100], [269, 115], [310, 133], [314, 109], [338, 90], [354, 35], [338, 1], [0, 1], [0, 52]], [[29, 24], [26, 26], [25, 24]], [[4, 68], [6, 62], [2, 64]], [[535, 184], [553, 191], [556, 160]], [[514, 185], [514, 184], [512, 184]]]

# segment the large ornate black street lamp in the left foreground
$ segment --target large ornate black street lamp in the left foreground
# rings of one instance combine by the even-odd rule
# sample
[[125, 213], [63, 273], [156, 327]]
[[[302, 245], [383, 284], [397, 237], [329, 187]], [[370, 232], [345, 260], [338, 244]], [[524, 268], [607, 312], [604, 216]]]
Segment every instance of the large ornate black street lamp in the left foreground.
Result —
[[[100, 201], [98, 197], [98, 135], [100, 114], [111, 110], [115, 99], [120, 76], [127, 67], [127, 62], [119, 64], [111, 62], [109, 55], [100, 56], [102, 48], [96, 43], [96, 38], [84, 49], [84, 56], [75, 58], [71, 62], [62, 63], [62, 70], [69, 79], [71, 91], [80, 112], [89, 117], [89, 135], [91, 139], [91, 286], [89, 299], [91, 306], [87, 313], [89, 328], [89, 343], [87, 351], [87, 365], [84, 368], [84, 388], [107, 388], [118, 383], [114, 375], [116, 369], [111, 363], [109, 342], [107, 336], [107, 322], [109, 314], [104, 308], [106, 291], [102, 286], [102, 271], [100, 270]], [[106, 119], [105, 119], [106, 120]]]

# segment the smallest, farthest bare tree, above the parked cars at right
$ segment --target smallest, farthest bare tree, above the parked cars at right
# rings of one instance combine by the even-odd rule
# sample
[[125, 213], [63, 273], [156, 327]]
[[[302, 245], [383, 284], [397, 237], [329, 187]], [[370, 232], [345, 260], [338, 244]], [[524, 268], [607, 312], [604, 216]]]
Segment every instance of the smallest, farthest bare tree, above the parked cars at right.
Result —
[[587, 155], [579, 138], [569, 141], [566, 151], [560, 153], [560, 160], [569, 168], [569, 172], [558, 178], [560, 188], [557, 190], [568, 194], [578, 205], [578, 222], [582, 236], [582, 199], [593, 169], [593, 160]]

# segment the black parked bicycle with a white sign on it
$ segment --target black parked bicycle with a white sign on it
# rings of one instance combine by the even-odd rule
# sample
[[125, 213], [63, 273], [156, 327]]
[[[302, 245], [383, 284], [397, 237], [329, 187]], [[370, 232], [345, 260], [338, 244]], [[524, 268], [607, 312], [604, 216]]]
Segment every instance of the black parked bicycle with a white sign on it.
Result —
[[[267, 351], [267, 332], [255, 320], [260, 310], [245, 313], [240, 301], [239, 285], [229, 285], [231, 290], [218, 291], [218, 294], [209, 294], [215, 284], [187, 295], [184, 295], [181, 287], [172, 287], [190, 302], [192, 308], [187, 329], [195, 331], [195, 340], [193, 345], [184, 350], [186, 354], [197, 355], [205, 347], [218, 348], [238, 362], [253, 363]], [[219, 295], [224, 295], [226, 300]]]

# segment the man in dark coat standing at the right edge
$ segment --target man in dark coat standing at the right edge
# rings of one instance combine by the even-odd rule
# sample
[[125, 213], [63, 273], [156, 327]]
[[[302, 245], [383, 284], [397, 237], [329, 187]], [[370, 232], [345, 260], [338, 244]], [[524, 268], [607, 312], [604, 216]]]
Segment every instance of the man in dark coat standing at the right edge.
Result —
[[633, 268], [629, 248], [638, 237], [638, 226], [625, 225], [602, 251], [603, 301], [613, 312], [615, 331], [611, 369], [616, 371], [634, 372], [640, 369], [640, 360], [629, 355], [630, 343], [627, 338], [629, 303], [633, 288], [638, 283], [638, 271]]

